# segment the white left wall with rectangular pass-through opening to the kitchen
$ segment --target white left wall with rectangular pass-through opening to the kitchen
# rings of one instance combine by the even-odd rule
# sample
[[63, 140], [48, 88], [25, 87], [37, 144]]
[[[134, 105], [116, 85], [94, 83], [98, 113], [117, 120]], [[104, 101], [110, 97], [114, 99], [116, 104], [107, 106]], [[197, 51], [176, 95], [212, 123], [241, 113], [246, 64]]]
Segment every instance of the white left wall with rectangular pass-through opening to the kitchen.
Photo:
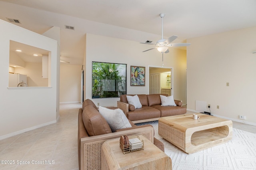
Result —
[[[0, 139], [56, 122], [56, 40], [0, 20]], [[50, 87], [8, 88], [10, 40], [51, 51]]]

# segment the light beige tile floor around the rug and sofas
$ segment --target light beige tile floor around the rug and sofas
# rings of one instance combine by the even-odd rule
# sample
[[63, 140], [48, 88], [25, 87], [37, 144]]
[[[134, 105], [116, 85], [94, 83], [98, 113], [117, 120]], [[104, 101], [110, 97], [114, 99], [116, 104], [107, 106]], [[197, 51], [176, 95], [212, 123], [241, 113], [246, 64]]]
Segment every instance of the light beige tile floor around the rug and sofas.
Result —
[[[77, 117], [81, 107], [80, 103], [61, 104], [57, 123], [0, 140], [0, 160], [15, 162], [0, 164], [0, 169], [78, 170]], [[252, 125], [233, 121], [233, 127], [256, 133]], [[44, 164], [32, 164], [32, 160]], [[30, 164], [18, 165], [17, 161]]]

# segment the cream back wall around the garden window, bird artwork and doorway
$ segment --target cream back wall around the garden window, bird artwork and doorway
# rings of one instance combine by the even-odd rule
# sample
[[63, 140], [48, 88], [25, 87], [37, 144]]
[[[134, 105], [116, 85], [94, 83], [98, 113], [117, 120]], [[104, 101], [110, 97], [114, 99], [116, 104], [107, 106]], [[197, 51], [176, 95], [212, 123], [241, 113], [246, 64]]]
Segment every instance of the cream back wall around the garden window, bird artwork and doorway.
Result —
[[[148, 94], [148, 65], [162, 66], [162, 54], [157, 50], [142, 53], [151, 46], [129, 40], [86, 34], [86, 99], [92, 99], [92, 61], [127, 64], [127, 94]], [[164, 67], [173, 67], [174, 98], [185, 101], [186, 51], [170, 48], [164, 54]], [[130, 66], [146, 67], [145, 86], [130, 86]], [[183, 79], [183, 80], [182, 80]], [[120, 98], [92, 99], [100, 106], [116, 106]]]

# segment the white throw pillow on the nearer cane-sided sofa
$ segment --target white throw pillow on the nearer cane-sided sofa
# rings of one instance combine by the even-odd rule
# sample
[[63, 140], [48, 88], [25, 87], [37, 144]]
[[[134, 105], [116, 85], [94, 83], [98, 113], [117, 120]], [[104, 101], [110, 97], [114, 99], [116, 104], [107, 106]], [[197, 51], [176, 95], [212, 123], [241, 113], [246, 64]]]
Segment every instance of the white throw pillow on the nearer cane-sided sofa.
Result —
[[121, 109], [113, 110], [100, 106], [99, 112], [108, 122], [112, 132], [115, 132], [117, 129], [132, 127]]

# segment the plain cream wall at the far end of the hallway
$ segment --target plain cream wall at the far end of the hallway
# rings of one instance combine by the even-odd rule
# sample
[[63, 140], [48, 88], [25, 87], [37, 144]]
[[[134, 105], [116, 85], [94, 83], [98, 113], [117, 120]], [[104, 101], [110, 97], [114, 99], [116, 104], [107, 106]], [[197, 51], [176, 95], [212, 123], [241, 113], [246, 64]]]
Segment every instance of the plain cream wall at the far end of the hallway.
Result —
[[81, 102], [82, 65], [60, 64], [60, 103]]

